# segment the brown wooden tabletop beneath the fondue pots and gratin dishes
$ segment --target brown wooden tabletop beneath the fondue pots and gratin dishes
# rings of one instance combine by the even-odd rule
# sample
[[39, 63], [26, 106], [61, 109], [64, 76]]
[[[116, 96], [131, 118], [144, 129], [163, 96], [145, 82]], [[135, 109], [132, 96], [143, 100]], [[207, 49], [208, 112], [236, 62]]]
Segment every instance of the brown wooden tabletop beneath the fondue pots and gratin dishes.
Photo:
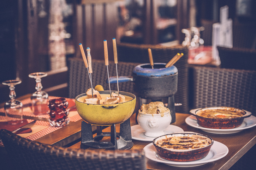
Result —
[[[21, 99], [25, 99], [28, 96], [23, 96]], [[2, 104], [0, 106], [3, 106]], [[207, 163], [205, 165], [191, 167], [186, 169], [191, 170], [199, 170], [199, 169], [207, 169], [207, 170], [216, 170], [216, 169], [229, 169], [234, 163], [237, 162], [252, 146], [256, 144], [256, 126], [250, 129], [242, 130], [241, 132], [234, 134], [212, 134], [203, 132], [200, 129], [191, 127], [185, 123], [186, 117], [190, 116], [190, 114], [181, 114], [176, 113], [176, 122], [172, 123], [172, 125], [181, 127], [184, 131], [197, 132], [204, 135], [208, 135], [213, 140], [221, 142], [222, 144], [228, 147], [228, 154], [214, 162]], [[136, 114], [133, 114], [130, 118], [131, 126], [136, 125]], [[68, 146], [70, 148], [80, 148], [81, 141], [79, 138], [81, 137], [81, 122], [79, 120], [77, 122], [70, 122], [70, 124], [66, 127], [62, 127], [58, 130], [55, 130], [52, 133], [49, 133], [36, 141], [42, 142], [44, 144], [50, 145], [58, 145], [58, 146]], [[93, 127], [95, 129], [95, 126]], [[117, 132], [119, 132], [119, 125], [116, 125]], [[110, 132], [110, 127], [103, 129], [104, 132]], [[94, 135], [95, 136], [95, 135]], [[109, 137], [105, 137], [108, 140]], [[104, 139], [104, 138], [103, 138]], [[75, 141], [75, 144], [73, 144]], [[78, 142], [77, 142], [78, 141]], [[143, 149], [146, 145], [151, 142], [148, 141], [133, 141], [133, 149]], [[88, 148], [88, 150], [99, 150], [97, 148]], [[1, 151], [1, 150], [0, 150]], [[154, 162], [152, 160], [147, 159], [147, 168], [155, 169], [155, 170], [166, 170], [166, 169], [184, 169], [169, 166], [163, 163]]]

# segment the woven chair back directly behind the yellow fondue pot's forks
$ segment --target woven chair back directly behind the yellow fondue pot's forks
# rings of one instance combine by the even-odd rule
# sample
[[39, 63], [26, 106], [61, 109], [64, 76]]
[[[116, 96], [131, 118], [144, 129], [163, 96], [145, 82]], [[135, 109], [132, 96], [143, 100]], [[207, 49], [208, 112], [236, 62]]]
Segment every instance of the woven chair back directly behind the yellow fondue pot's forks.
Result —
[[[107, 66], [104, 60], [92, 60], [92, 81], [93, 88], [96, 85], [102, 85], [104, 90], [109, 90], [109, 85], [106, 83], [108, 79]], [[116, 65], [113, 61], [108, 63], [109, 76], [117, 76]], [[131, 76], [132, 70], [139, 63], [118, 62], [118, 76]], [[88, 75], [87, 68], [82, 59], [70, 58], [68, 61], [69, 68], [69, 97], [75, 98], [76, 96], [85, 93], [91, 88], [91, 83]], [[126, 91], [134, 93], [133, 83], [124, 82], [119, 83], [119, 91]], [[111, 90], [117, 90], [117, 84], [111, 84]]]

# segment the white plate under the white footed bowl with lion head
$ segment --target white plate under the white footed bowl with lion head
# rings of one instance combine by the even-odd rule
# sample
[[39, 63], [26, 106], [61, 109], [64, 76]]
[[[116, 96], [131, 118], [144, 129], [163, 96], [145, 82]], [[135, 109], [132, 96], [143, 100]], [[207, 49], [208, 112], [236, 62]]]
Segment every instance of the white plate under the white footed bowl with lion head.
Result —
[[[156, 137], [148, 137], [145, 136], [144, 133], [146, 132], [142, 129], [139, 125], [131, 126], [132, 131], [132, 139], [141, 140], [141, 141], [153, 141]], [[176, 133], [176, 132], [184, 132], [184, 130], [175, 125], [169, 125], [165, 130], [163, 130], [165, 134]]]

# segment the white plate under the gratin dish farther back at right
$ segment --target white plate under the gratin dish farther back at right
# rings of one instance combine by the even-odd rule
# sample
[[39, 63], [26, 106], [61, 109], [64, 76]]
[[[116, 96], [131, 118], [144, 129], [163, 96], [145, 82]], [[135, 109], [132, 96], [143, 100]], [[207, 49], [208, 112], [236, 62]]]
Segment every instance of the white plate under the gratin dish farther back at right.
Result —
[[211, 128], [202, 127], [197, 124], [196, 116], [193, 116], [193, 115], [187, 117], [185, 119], [185, 122], [187, 123], [187, 125], [201, 129], [204, 132], [216, 133], [216, 134], [230, 134], [230, 133], [237, 133], [244, 129], [248, 129], [256, 126], [256, 117], [251, 115], [250, 117], [244, 118], [242, 125], [233, 129], [211, 129]]

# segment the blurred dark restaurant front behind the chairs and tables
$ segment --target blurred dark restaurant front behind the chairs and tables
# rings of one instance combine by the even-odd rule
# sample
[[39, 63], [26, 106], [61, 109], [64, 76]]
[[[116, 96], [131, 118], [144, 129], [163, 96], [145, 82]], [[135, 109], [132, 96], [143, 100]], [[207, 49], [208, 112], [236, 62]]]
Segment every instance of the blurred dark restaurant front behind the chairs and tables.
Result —
[[[233, 47], [255, 49], [254, 0], [3, 0], [0, 80], [22, 80], [16, 86], [22, 96], [35, 91], [29, 73], [47, 72], [43, 90], [67, 97], [67, 59], [82, 57], [79, 43], [91, 49], [93, 59], [103, 60], [103, 40], [173, 46], [184, 41], [182, 29], [204, 26], [204, 45], [212, 45], [212, 24], [220, 22], [225, 5], [233, 21]], [[246, 43], [236, 41], [238, 36]], [[0, 102], [7, 101], [8, 87], [0, 84], [0, 94]]]

